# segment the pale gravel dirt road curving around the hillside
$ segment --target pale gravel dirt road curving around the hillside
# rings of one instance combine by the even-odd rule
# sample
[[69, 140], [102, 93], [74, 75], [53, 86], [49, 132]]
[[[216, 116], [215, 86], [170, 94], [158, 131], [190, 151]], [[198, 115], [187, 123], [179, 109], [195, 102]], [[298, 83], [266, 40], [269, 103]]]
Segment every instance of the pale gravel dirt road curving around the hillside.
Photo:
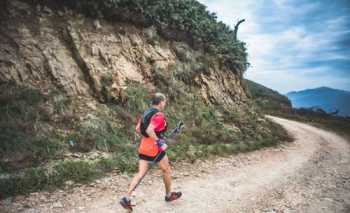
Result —
[[[269, 117], [295, 141], [229, 158], [176, 165], [174, 189], [164, 202], [159, 171], [136, 190], [134, 212], [350, 212], [350, 145], [303, 123]], [[125, 212], [118, 199], [130, 178], [111, 175], [94, 184], [34, 193], [3, 202], [8, 212]], [[6, 206], [6, 207], [4, 207]], [[0, 207], [1, 210], [1, 207]]]

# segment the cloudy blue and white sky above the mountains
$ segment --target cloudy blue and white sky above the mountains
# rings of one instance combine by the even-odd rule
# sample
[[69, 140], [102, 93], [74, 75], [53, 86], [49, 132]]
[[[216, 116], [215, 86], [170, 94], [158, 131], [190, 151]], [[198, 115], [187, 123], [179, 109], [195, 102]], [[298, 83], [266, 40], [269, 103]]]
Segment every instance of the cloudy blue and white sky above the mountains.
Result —
[[244, 77], [285, 94], [350, 91], [350, 0], [199, 0], [233, 29], [251, 64]]

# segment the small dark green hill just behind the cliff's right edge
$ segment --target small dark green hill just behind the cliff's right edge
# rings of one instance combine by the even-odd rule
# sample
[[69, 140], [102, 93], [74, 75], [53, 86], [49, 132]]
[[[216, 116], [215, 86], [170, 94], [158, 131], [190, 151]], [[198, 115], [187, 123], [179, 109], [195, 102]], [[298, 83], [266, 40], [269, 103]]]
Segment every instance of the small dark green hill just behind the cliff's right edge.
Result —
[[290, 100], [277, 91], [248, 79], [244, 79], [243, 82], [247, 85], [249, 93], [255, 103], [263, 110], [281, 111], [292, 108]]

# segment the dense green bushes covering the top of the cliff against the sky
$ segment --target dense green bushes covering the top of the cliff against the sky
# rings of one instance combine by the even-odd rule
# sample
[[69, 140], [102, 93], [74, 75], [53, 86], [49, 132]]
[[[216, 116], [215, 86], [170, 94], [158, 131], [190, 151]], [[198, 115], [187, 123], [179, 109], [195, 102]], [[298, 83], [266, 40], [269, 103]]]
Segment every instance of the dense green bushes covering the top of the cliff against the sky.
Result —
[[195, 49], [215, 54], [232, 72], [247, 67], [245, 43], [235, 39], [234, 31], [217, 20], [196, 0], [37, 0], [41, 4], [67, 6], [87, 16], [124, 21], [144, 27], [155, 26], [171, 40], [184, 41]]

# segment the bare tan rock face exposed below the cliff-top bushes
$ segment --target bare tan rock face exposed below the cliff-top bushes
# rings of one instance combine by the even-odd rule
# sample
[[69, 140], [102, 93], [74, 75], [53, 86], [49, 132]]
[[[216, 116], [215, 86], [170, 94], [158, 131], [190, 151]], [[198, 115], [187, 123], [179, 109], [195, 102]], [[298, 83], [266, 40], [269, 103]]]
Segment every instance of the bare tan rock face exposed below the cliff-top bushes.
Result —
[[[154, 88], [152, 70], [162, 72], [181, 61], [177, 42], [165, 41], [152, 27], [137, 28], [53, 11], [23, 1], [5, 1], [0, 26], [0, 81], [15, 81], [48, 91], [55, 87], [69, 96], [104, 93], [121, 99], [128, 80]], [[187, 58], [201, 55], [190, 48]], [[182, 63], [194, 63], [193, 61]], [[241, 77], [212, 60], [208, 72], [198, 74], [203, 97], [227, 107], [247, 101]]]

